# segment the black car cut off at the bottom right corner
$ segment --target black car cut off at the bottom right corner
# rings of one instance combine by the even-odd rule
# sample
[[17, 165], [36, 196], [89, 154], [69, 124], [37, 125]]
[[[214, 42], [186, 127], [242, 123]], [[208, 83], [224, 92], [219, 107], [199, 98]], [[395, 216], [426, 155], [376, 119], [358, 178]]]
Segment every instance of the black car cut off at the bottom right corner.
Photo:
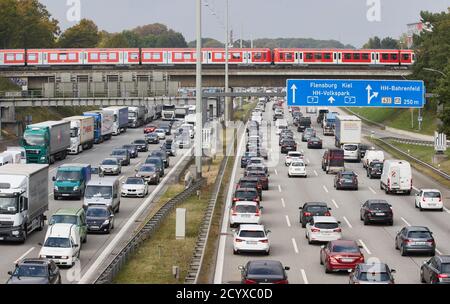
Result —
[[430, 284], [450, 284], [450, 255], [434, 256], [420, 267], [420, 281]]

